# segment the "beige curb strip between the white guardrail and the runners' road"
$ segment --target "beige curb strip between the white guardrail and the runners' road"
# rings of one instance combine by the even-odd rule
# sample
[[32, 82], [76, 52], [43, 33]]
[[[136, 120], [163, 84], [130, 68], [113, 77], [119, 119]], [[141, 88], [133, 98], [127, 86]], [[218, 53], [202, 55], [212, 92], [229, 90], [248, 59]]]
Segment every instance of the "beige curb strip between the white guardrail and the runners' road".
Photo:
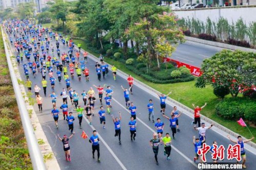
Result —
[[[7, 34], [6, 34], [5, 29], [3, 27], [2, 27], [2, 30], [3, 30], [3, 33], [4, 33], [3, 34], [3, 39], [4, 39], [4, 41], [8, 41], [7, 45], [10, 48], [10, 49], [7, 49], [7, 51], [9, 52], [9, 56], [14, 56], [13, 51], [12, 51], [12, 46], [10, 45], [9, 40], [7, 40], [8, 38], [6, 38]], [[16, 74], [16, 79], [17, 80], [18, 79], [22, 80], [22, 77], [20, 76], [19, 70], [17, 68], [16, 59], [11, 58], [11, 61], [12, 61], [12, 65], [13, 65], [13, 68], [14, 68], [14, 71], [15, 71], [15, 74]], [[24, 101], [25, 101], [27, 110], [28, 111], [32, 110], [32, 114], [30, 115], [30, 122], [31, 122], [31, 124], [34, 128], [34, 135], [35, 135], [37, 140], [41, 140], [41, 141], [45, 142], [43, 144], [39, 144], [39, 148], [41, 150], [42, 156], [49, 155], [49, 154], [52, 153], [52, 157], [50, 159], [45, 160], [46, 168], [47, 169], [60, 170], [57, 159], [56, 159], [56, 157], [55, 157], [55, 155], [52, 151], [51, 145], [49, 144], [44, 131], [42, 130], [42, 127], [39, 123], [39, 120], [38, 120], [38, 117], [35, 113], [35, 110], [34, 110], [33, 106], [29, 105], [29, 103], [26, 102], [26, 101], [28, 101], [28, 97], [27, 97], [27, 92], [25, 90], [25, 86], [23, 84], [19, 84], [19, 88], [20, 88], [20, 91], [22, 92], [22, 94], [24, 95]]]

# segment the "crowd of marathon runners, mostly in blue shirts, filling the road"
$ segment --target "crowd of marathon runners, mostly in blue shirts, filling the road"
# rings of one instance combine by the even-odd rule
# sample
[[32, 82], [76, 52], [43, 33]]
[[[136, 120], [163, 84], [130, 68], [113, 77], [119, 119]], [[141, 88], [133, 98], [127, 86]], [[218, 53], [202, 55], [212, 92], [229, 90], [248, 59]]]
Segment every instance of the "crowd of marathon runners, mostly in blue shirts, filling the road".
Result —
[[[36, 102], [38, 104], [39, 111], [42, 112], [43, 100], [52, 101], [52, 116], [58, 128], [58, 119], [60, 116], [60, 112], [62, 112], [63, 120], [67, 121], [69, 131], [72, 133], [71, 136], [64, 135], [62, 138], [58, 138], [63, 143], [63, 150], [65, 151], [66, 160], [71, 161], [70, 158], [70, 145], [69, 139], [73, 137], [74, 132], [74, 120], [76, 119], [73, 114], [75, 111], [79, 127], [82, 128], [82, 119], [83, 115], [87, 117], [89, 124], [92, 125], [92, 118], [95, 114], [99, 116], [100, 124], [102, 124], [102, 128], [105, 129], [106, 119], [105, 116], [107, 114], [111, 115], [112, 108], [112, 96], [114, 95], [114, 91], [111, 86], [106, 85], [93, 85], [90, 89], [83, 90], [81, 89], [73, 89], [71, 83], [75, 76], [79, 81], [86, 82], [90, 81], [91, 77], [97, 77], [98, 81], [101, 81], [101, 76], [105, 79], [106, 75], [110, 74], [110, 67], [107, 63], [104, 62], [104, 57], [102, 55], [99, 56], [100, 62], [96, 62], [95, 70], [90, 70], [87, 68], [88, 63], [88, 52], [81, 52], [81, 44], [77, 44], [78, 48], [75, 47], [75, 44], [71, 38], [62, 36], [61, 34], [53, 32], [49, 28], [44, 28], [41, 25], [36, 25], [34, 22], [28, 20], [9, 20], [4, 23], [5, 30], [10, 38], [10, 43], [13, 48], [15, 48], [15, 57], [18, 65], [21, 65], [24, 69], [24, 74], [26, 76], [26, 86], [29, 92], [34, 91]], [[65, 46], [66, 51], [60, 51], [59, 46]], [[77, 49], [77, 50], [76, 50]], [[55, 56], [54, 52], [57, 52], [57, 56]], [[95, 71], [95, 74], [92, 75], [92, 72]], [[113, 74], [113, 79], [116, 81], [117, 68], [113, 65], [111, 67], [111, 71]], [[69, 73], [69, 74], [68, 74]], [[90, 76], [89, 76], [90, 73]], [[70, 75], [70, 77], [69, 77]], [[97, 75], [97, 76], [96, 76]], [[41, 85], [34, 85], [32, 90], [32, 81], [33, 78], [40, 77]], [[55, 78], [57, 77], [57, 79]], [[84, 78], [83, 78], [84, 77]], [[47, 87], [48, 81], [51, 84], [51, 89], [49, 90]], [[58, 83], [64, 81], [66, 87], [61, 87]], [[58, 82], [58, 83], [57, 83]], [[120, 88], [123, 90], [123, 96], [125, 101], [125, 106], [130, 110], [131, 119], [130, 122], [126, 124], [130, 128], [131, 133], [131, 141], [136, 140], [136, 110], [137, 107], [133, 102], [130, 102], [130, 94], [133, 94], [134, 79], [131, 75], [127, 77], [127, 85], [129, 88], [124, 88], [121, 86]], [[61, 88], [62, 91], [60, 94], [55, 93], [55, 86], [57, 88]], [[41, 88], [44, 93], [41, 94]], [[96, 96], [95, 90], [98, 91], [98, 96]], [[50, 91], [50, 92], [49, 92]], [[50, 94], [49, 94], [50, 93]], [[166, 159], [170, 160], [170, 152], [172, 150], [171, 142], [172, 139], [175, 139], [175, 134], [180, 132], [179, 128], [179, 117], [181, 116], [181, 112], [177, 110], [177, 107], [174, 106], [173, 110], [170, 113], [166, 114], [166, 98], [170, 94], [157, 94], [160, 99], [160, 113], [157, 114], [157, 118], [154, 117], [154, 104], [153, 100], [149, 99], [148, 104], [145, 104], [148, 109], [148, 120], [154, 123], [154, 127], [156, 128], [156, 133], [153, 134], [153, 138], [150, 141], [150, 145], [153, 148], [153, 152], [155, 154], [156, 164], [158, 165], [158, 150], [159, 145], [164, 144], [164, 155], [166, 155]], [[48, 94], [48, 95], [47, 95]], [[43, 98], [42, 96], [45, 96]], [[62, 99], [62, 100], [61, 100]], [[62, 104], [60, 106], [56, 106], [56, 101], [61, 100]], [[98, 113], [95, 113], [95, 105], [96, 100], [99, 100], [100, 110]], [[71, 109], [69, 103], [75, 106], [75, 109]], [[82, 103], [82, 104], [81, 104]], [[198, 155], [198, 150], [201, 149], [202, 144], [206, 141], [206, 131], [210, 129], [214, 125], [210, 125], [206, 127], [204, 123], [200, 122], [200, 111], [206, 106], [199, 107], [193, 104], [195, 108], [195, 119], [191, 123], [191, 125], [195, 124], [194, 129], [199, 131], [198, 137], [191, 136], [189, 140], [193, 142], [195, 147], [195, 157], [194, 161], [200, 159]], [[113, 123], [115, 128], [115, 137], [118, 136], [119, 144], [121, 144], [121, 120], [122, 116], [119, 112], [118, 117], [114, 117], [113, 115]], [[96, 116], [95, 116], [96, 117]], [[169, 120], [169, 127], [172, 132], [172, 137], [169, 135], [168, 131], [164, 132], [165, 124], [162, 122], [161, 118], [166, 118]], [[198, 124], [198, 127], [196, 125]], [[167, 128], [166, 128], [167, 129]], [[228, 137], [230, 138], [230, 137]], [[241, 145], [241, 156], [243, 158], [243, 167], [245, 168], [245, 150], [244, 143], [252, 140], [252, 137], [249, 140], [243, 140], [241, 136], [238, 137], [238, 140], [230, 139], [234, 143], [238, 143]], [[97, 151], [97, 161], [100, 162], [100, 152], [99, 152], [99, 136], [97, 135], [97, 131], [93, 131], [93, 135], [89, 140], [92, 143], [92, 153], [94, 158], [94, 152]], [[217, 141], [213, 142], [217, 145]], [[212, 151], [211, 151], [212, 152]], [[201, 160], [201, 159], [200, 159]], [[202, 161], [202, 160], [201, 160]], [[213, 160], [217, 162], [217, 160]]]

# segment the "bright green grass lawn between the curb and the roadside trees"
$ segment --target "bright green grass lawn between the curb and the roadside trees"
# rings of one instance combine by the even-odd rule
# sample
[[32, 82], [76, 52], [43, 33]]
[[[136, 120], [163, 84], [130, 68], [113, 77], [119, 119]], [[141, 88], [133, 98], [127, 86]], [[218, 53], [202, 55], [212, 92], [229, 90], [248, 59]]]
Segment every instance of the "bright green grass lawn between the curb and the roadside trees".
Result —
[[[74, 39], [73, 41], [75, 42], [75, 44], [81, 43], [81, 48], [93, 54], [94, 56], [97, 56], [97, 57], [99, 56], [98, 53], [91, 51], [90, 48], [88, 48], [87, 43], [84, 42], [83, 40]], [[142, 83], [145, 83], [146, 85], [162, 93], [167, 94], [169, 91], [172, 91], [172, 94], [170, 94], [170, 97], [172, 99], [179, 101], [180, 103], [182, 103], [183, 105], [191, 109], [193, 109], [192, 103], [201, 107], [206, 102], [207, 106], [202, 110], [203, 115], [227, 127], [231, 131], [241, 134], [246, 138], [251, 138], [251, 134], [249, 133], [247, 128], [243, 128], [239, 126], [236, 121], [225, 120], [222, 117], [219, 117], [215, 113], [215, 106], [220, 102], [220, 99], [218, 99], [214, 95], [213, 88], [210, 85], [202, 89], [197, 88], [195, 86], [196, 80], [190, 81], [190, 82], [174, 83], [174, 84], [156, 84], [156, 83], [148, 82], [143, 78], [141, 78], [140, 76], [135, 75], [133, 71], [127, 69], [119, 61], [116, 61], [110, 58], [104, 58], [104, 60], [111, 65], [115, 65], [118, 69], [122, 70], [126, 74], [132, 75], [137, 80], [141, 81]], [[231, 97], [230, 94], [226, 96], [226, 98], [230, 98], [230, 97]], [[256, 128], [249, 127], [249, 129], [252, 132], [253, 136], [256, 136]], [[256, 142], [256, 139], [254, 139], [253, 142]]]

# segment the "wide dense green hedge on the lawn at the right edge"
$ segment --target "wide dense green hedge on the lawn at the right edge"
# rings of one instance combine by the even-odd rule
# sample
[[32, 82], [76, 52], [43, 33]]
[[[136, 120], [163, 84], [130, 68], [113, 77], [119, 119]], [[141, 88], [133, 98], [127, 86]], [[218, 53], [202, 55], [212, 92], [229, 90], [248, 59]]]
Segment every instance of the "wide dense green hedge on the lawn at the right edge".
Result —
[[249, 98], [227, 98], [216, 105], [216, 113], [226, 119], [238, 120], [240, 117], [256, 124], [256, 100]]

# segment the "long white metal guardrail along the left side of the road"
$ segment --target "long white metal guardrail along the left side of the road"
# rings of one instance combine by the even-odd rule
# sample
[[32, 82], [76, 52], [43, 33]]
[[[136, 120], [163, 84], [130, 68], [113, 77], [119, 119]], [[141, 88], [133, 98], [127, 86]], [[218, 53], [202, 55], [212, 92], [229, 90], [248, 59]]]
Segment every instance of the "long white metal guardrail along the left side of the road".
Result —
[[28, 111], [26, 109], [26, 104], [23, 100], [23, 95], [19, 89], [19, 84], [18, 84], [17, 78], [15, 76], [15, 72], [14, 72], [14, 69], [12, 66], [11, 56], [8, 52], [8, 47], [6, 44], [7, 39], [5, 38], [6, 36], [4, 35], [4, 29], [2, 26], [1, 26], [1, 28], [2, 28], [5, 53], [6, 53], [6, 58], [7, 58], [10, 76], [11, 76], [11, 80], [12, 80], [12, 85], [13, 85], [13, 89], [14, 89], [15, 96], [16, 96], [20, 119], [22, 120], [22, 126], [23, 126], [24, 133], [26, 136], [27, 145], [28, 145], [28, 149], [29, 149], [29, 155], [31, 158], [33, 169], [34, 170], [46, 170], [46, 165], [44, 163], [44, 159], [42, 158], [42, 154], [39, 149], [37, 139], [35, 137], [34, 129], [30, 122]]

